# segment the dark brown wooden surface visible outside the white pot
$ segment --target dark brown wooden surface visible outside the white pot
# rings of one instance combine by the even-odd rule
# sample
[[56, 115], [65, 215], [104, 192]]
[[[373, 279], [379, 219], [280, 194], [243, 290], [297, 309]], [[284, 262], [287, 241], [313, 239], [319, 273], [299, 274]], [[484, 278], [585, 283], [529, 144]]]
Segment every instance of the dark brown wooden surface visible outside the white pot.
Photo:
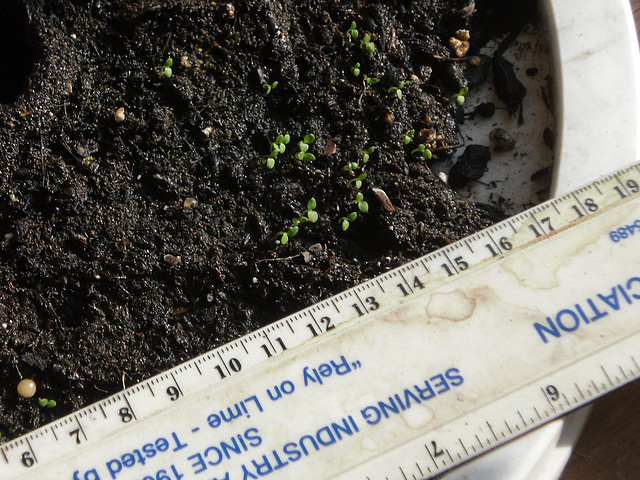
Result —
[[[631, 0], [640, 31], [640, 0]], [[639, 35], [640, 38], [640, 35]], [[640, 479], [640, 380], [598, 400], [560, 480]]]

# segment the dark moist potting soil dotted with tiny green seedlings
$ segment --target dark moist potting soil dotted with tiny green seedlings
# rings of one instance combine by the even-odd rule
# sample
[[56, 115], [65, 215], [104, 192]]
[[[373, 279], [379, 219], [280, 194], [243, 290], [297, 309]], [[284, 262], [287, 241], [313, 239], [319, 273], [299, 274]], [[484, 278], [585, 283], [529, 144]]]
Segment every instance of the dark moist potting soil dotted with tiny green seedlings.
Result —
[[529, 7], [3, 1], [2, 439], [488, 226], [415, 150]]

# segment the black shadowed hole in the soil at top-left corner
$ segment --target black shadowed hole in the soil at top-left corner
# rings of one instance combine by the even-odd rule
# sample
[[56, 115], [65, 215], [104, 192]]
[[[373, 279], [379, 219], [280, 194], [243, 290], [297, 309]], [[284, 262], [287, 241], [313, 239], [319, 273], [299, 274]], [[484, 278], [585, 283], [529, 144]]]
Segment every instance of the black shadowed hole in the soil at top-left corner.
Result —
[[0, 45], [3, 74], [0, 103], [11, 103], [22, 93], [36, 61], [36, 37], [23, 0], [3, 0], [0, 12]]

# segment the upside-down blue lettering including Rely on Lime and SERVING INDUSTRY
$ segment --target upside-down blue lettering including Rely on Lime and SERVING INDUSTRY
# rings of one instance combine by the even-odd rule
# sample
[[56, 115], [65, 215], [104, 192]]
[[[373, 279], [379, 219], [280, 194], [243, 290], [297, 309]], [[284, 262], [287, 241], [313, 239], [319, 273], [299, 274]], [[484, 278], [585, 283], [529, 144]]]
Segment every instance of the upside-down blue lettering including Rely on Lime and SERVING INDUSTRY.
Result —
[[[297, 381], [284, 380], [264, 392], [249, 396], [231, 406], [223, 407], [206, 418], [205, 432], [217, 430], [223, 425], [238, 423], [237, 433], [220, 438], [197, 451], [189, 448], [190, 435], [201, 435], [200, 427], [190, 433], [171, 432], [168, 435], [149, 439], [139, 448], [129, 449], [99, 465], [83, 471], [75, 471], [73, 480], [117, 480], [136, 478], [137, 480], [181, 480], [203, 478], [204, 480], [249, 480], [273, 473], [292, 465], [305, 457], [338, 444], [357, 435], [363, 429], [371, 428], [387, 419], [446, 394], [462, 385], [464, 379], [457, 368], [449, 368], [443, 373], [420, 377], [408, 383], [400, 391], [390, 392], [383, 399], [368, 402], [352, 414], [326, 422], [319, 428], [309, 428], [308, 433], [289, 441], [269, 442], [267, 451], [258, 450], [265, 446], [269, 432], [261, 432], [254, 426], [239, 423], [240, 419], [251, 419], [268, 410], [268, 405], [293, 395], [296, 388], [321, 388], [332, 378], [352, 374], [362, 365], [359, 360], [347, 360], [344, 355], [316, 366], [305, 366]], [[307, 419], [301, 419], [305, 421]], [[278, 443], [280, 442], [280, 443]], [[277, 444], [276, 448], [273, 445]], [[162, 459], [169, 457], [165, 452], [184, 455], [183, 462], [164, 465]], [[251, 455], [250, 452], [253, 452]], [[164, 454], [164, 455], [163, 455]], [[251, 455], [251, 456], [250, 456]], [[234, 458], [247, 459], [234, 470], [227, 464]], [[167, 462], [168, 463], [168, 462]], [[188, 465], [188, 466], [184, 466]]]

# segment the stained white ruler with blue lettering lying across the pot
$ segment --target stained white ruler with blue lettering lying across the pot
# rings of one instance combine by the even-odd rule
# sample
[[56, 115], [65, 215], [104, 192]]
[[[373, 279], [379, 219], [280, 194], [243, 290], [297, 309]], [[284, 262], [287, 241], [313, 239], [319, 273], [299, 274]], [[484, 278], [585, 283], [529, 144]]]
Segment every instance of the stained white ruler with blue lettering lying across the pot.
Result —
[[432, 478], [640, 376], [640, 164], [0, 445], [0, 478]]

